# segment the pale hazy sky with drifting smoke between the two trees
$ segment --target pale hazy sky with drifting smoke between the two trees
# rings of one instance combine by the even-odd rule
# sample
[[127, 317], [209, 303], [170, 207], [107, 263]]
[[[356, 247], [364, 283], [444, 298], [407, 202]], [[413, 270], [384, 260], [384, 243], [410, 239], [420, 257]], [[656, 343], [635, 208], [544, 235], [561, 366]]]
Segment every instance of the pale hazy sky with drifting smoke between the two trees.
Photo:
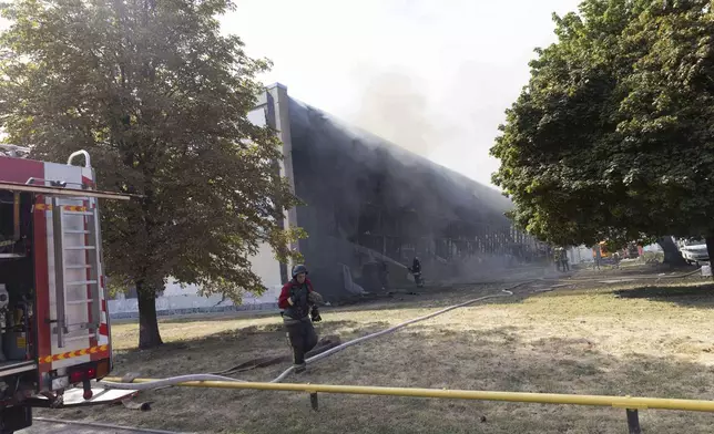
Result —
[[553, 12], [580, 0], [235, 0], [222, 19], [261, 79], [483, 184], [504, 111], [533, 49], [555, 41]]

